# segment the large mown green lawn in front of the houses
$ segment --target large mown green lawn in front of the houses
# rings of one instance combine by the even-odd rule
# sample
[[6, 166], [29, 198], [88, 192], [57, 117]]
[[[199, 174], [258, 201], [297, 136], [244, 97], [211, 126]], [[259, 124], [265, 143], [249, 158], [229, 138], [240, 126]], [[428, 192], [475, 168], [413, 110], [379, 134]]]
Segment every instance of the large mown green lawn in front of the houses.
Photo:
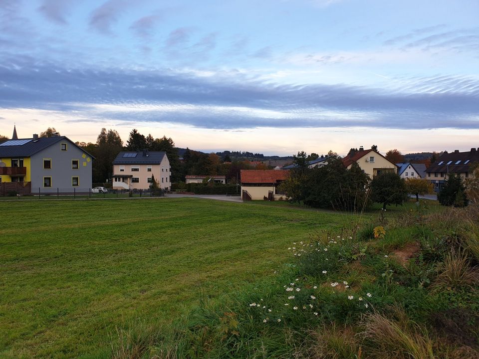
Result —
[[0, 358], [104, 358], [271, 270], [344, 213], [194, 198], [0, 201]]

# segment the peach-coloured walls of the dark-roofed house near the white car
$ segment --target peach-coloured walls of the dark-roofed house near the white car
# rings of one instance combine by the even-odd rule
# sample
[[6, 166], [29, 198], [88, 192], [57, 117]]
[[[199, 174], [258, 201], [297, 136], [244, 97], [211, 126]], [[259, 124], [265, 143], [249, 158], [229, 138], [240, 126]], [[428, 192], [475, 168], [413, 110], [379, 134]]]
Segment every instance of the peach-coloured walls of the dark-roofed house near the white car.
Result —
[[[124, 167], [124, 171], [120, 172], [120, 167]], [[139, 171], [131, 171], [132, 167], [138, 167]], [[151, 172], [148, 168], [151, 167]], [[128, 183], [129, 189], [147, 189], [150, 188], [151, 182], [148, 182], [148, 178], [152, 175], [155, 176], [155, 180], [158, 182], [161, 188], [166, 190], [171, 189], [171, 167], [168, 157], [163, 156], [163, 160], [160, 164], [130, 164], [130, 165], [113, 165], [113, 178], [115, 175], [131, 175], [132, 178], [125, 179]], [[133, 178], [138, 178], [138, 182], [133, 182]], [[119, 184], [115, 184], [115, 180], [112, 181], [112, 187], [121, 189], [123, 188]]]

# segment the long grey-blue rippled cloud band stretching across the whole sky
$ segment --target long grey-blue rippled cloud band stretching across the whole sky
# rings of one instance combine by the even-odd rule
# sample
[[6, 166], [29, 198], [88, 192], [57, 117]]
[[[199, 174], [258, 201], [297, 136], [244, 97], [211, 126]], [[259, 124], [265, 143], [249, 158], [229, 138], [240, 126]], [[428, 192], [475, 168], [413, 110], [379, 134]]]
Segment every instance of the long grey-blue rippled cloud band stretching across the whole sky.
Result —
[[[39, 108], [92, 121], [170, 122], [214, 129], [366, 126], [479, 128], [479, 78], [396, 78], [394, 87], [278, 85], [237, 72], [0, 67], [0, 108]], [[399, 85], [396, 85], [399, 84]]]

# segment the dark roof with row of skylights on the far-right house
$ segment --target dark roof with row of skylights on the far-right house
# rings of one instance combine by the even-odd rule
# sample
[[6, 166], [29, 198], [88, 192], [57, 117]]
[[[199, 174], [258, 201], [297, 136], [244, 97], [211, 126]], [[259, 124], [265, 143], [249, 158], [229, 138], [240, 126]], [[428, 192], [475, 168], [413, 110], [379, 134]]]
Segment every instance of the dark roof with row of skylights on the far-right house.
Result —
[[472, 163], [479, 162], [479, 148], [471, 151], [459, 152], [458, 150], [444, 152], [437, 162], [428, 167], [426, 172], [435, 173], [466, 173]]

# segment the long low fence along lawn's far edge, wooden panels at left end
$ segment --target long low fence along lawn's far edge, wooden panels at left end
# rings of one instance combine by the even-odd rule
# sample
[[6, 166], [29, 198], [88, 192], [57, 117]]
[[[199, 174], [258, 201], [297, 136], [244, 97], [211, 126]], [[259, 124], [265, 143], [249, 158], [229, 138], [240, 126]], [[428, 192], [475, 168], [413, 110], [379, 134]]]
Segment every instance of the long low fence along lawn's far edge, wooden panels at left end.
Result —
[[[157, 197], [164, 196], [165, 191], [151, 189], [107, 189], [106, 192], [93, 193], [91, 188], [31, 188], [28, 185], [22, 186], [22, 182], [17, 186], [16, 182], [0, 183], [0, 196], [17, 197], [18, 199], [47, 199], [47, 198], [127, 198], [127, 197]], [[4, 186], [6, 185], [6, 186]], [[6, 188], [6, 189], [5, 189]]]

